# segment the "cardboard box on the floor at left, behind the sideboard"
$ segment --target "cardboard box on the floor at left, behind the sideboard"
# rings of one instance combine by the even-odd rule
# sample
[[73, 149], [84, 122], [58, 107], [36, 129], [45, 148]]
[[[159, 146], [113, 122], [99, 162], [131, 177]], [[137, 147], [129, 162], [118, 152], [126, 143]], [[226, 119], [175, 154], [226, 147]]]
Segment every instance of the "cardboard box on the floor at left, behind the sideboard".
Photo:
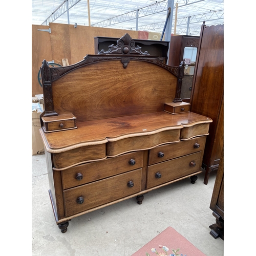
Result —
[[32, 156], [45, 154], [44, 143], [39, 133], [41, 128], [40, 114], [42, 111], [39, 102], [32, 102]]

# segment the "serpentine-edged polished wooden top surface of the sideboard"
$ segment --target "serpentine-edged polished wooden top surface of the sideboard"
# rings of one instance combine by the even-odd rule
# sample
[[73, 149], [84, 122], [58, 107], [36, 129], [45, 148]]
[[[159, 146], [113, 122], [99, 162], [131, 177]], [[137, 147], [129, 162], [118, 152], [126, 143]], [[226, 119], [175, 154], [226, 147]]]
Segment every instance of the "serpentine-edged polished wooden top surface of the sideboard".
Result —
[[151, 135], [161, 131], [182, 129], [185, 125], [211, 122], [193, 112], [172, 115], [164, 111], [77, 123], [78, 129], [56, 133], [40, 130], [48, 152], [59, 153], [73, 148], [103, 144], [124, 138]]

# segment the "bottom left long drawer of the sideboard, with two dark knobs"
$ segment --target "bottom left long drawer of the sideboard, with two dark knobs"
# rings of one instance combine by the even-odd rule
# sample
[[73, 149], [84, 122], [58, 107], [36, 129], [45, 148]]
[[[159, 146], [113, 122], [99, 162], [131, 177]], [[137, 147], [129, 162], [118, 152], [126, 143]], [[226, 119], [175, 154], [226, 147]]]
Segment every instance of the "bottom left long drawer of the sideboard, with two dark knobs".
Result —
[[132, 170], [63, 191], [66, 217], [133, 195], [141, 190], [141, 170]]

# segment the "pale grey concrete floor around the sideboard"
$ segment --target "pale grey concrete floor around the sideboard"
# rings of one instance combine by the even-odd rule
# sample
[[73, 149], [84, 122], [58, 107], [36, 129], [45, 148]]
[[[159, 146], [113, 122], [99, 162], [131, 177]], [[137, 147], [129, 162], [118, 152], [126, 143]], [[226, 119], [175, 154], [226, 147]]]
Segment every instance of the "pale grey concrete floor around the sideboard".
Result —
[[72, 219], [61, 233], [48, 194], [45, 155], [32, 156], [32, 255], [131, 256], [171, 226], [207, 256], [222, 256], [224, 241], [209, 234], [215, 178], [216, 172], [205, 185], [203, 172], [195, 184], [188, 178], [151, 191], [141, 205], [131, 198], [95, 210]]

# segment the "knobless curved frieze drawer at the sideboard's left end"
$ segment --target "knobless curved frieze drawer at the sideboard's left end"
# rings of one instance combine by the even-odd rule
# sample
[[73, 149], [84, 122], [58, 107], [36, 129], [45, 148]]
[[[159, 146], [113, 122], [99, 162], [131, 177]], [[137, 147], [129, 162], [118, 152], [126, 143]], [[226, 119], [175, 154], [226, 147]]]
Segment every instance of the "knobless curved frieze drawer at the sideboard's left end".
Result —
[[61, 153], [53, 153], [55, 169], [67, 168], [82, 162], [89, 162], [106, 157], [106, 144], [82, 146]]

